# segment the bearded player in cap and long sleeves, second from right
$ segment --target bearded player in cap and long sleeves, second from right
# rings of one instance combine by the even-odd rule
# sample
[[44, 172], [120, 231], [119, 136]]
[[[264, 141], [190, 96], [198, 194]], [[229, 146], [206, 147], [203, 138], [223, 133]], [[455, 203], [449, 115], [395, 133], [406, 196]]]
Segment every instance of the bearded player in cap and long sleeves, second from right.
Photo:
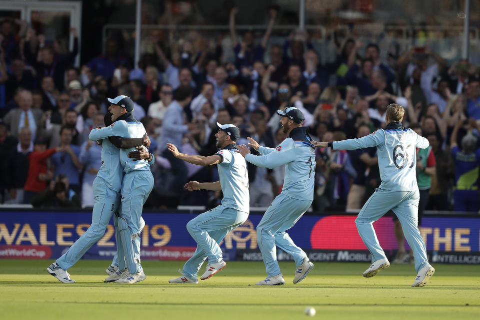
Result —
[[275, 245], [290, 254], [296, 265], [293, 283], [296, 284], [313, 269], [313, 264], [305, 252], [298, 248], [285, 232], [293, 227], [313, 201], [315, 176], [315, 152], [310, 144], [308, 128], [301, 126], [303, 113], [293, 106], [277, 110], [284, 133], [289, 136], [275, 149], [261, 147], [248, 137], [249, 146], [258, 150], [255, 156], [245, 145], [238, 146], [245, 160], [259, 167], [275, 168], [285, 165], [285, 178], [281, 193], [275, 197], [270, 207], [256, 227], [257, 242], [268, 276], [256, 285], [283, 285], [285, 280], [276, 259]]

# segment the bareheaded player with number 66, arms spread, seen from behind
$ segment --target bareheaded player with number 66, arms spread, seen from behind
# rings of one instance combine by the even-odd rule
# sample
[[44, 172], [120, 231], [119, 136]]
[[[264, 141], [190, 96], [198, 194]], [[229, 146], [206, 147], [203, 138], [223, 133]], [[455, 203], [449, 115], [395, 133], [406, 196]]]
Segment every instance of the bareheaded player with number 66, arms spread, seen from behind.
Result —
[[358, 234], [371, 253], [372, 264], [365, 270], [363, 277], [373, 277], [390, 266], [378, 243], [372, 223], [388, 210], [392, 210], [400, 221], [403, 234], [415, 257], [417, 276], [411, 286], [423, 287], [435, 269], [428, 263], [425, 243], [417, 227], [420, 196], [416, 183], [415, 148], [425, 149], [429, 143], [427, 139], [402, 125], [403, 114], [403, 108], [392, 103], [386, 108], [385, 128], [358, 139], [328, 143], [312, 141], [312, 144], [315, 147], [328, 146], [335, 150], [377, 147], [381, 184], [355, 219]]

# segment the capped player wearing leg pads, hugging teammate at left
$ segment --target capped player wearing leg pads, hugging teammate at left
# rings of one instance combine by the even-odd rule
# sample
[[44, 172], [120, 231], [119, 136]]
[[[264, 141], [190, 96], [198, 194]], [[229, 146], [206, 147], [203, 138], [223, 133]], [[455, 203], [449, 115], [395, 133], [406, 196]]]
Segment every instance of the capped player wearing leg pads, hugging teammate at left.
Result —
[[[141, 122], [132, 115], [133, 101], [129, 97], [119, 95], [114, 99], [108, 98], [108, 101], [111, 103], [108, 110], [114, 122], [108, 127], [91, 130], [90, 140], [106, 139], [111, 136], [139, 138], [146, 133]], [[128, 153], [135, 151], [138, 150], [131, 148], [121, 149], [119, 152], [120, 166], [124, 176], [120, 190], [121, 206], [113, 222], [116, 227], [119, 270], [123, 272], [120, 275], [115, 273], [107, 277], [105, 279], [107, 282], [133, 284], [145, 279], [140, 264], [139, 247], [135, 245], [135, 241], [139, 238], [141, 231], [140, 218], [143, 204], [153, 188], [153, 176], [148, 163], [153, 158], [150, 155], [147, 161], [133, 161], [128, 157]]]

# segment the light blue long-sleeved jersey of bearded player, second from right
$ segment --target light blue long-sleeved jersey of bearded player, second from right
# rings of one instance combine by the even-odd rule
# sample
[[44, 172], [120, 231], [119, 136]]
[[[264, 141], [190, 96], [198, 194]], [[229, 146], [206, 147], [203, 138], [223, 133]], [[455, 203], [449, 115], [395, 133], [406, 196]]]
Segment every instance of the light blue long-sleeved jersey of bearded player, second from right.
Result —
[[259, 147], [259, 156], [247, 154], [245, 160], [269, 169], [284, 164], [281, 193], [298, 200], [313, 200], [316, 162], [315, 150], [310, 142], [307, 128], [297, 127], [275, 149]]

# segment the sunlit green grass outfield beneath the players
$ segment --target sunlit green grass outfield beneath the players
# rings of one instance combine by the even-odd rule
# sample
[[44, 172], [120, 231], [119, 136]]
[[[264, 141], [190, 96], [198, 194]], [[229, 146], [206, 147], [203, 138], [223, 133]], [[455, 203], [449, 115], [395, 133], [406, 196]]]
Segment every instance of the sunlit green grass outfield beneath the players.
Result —
[[[80, 260], [68, 272], [75, 284], [61, 284], [45, 271], [49, 260], [0, 259], [0, 310], [5, 320], [188, 319], [480, 319], [480, 267], [435, 265], [427, 286], [411, 288], [411, 265], [391, 265], [363, 278], [364, 263], [315, 263], [293, 285], [294, 265], [280, 263], [286, 284], [258, 287], [261, 262], [227, 262], [198, 285], [170, 285], [183, 262], [142, 261], [146, 280], [105, 284], [106, 260]], [[204, 267], [200, 272], [204, 271]]]

